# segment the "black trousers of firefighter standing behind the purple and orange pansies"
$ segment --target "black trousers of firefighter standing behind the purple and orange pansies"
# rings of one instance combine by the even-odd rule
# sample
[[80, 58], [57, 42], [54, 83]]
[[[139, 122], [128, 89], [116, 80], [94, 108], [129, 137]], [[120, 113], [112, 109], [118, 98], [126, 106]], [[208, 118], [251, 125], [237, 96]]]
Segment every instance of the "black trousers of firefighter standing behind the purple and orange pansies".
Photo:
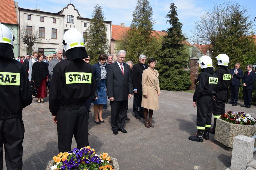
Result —
[[59, 109], [58, 113], [58, 148], [59, 152], [71, 151], [73, 134], [77, 148], [88, 146], [88, 112], [85, 106], [75, 110]]

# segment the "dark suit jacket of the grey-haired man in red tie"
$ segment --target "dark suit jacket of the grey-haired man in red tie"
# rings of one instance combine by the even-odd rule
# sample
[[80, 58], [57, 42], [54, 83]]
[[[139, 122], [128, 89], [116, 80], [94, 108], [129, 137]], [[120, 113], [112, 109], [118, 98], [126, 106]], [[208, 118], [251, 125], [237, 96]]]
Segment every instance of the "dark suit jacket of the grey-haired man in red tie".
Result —
[[108, 97], [114, 97], [114, 101], [128, 100], [128, 95], [132, 94], [132, 74], [130, 66], [123, 63], [123, 68], [124, 75], [117, 62], [108, 65]]

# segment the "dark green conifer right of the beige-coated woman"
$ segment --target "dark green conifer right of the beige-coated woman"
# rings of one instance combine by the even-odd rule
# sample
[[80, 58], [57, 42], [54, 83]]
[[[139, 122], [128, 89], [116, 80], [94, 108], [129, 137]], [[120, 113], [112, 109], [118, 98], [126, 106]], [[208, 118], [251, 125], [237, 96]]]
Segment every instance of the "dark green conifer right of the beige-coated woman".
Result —
[[188, 65], [188, 52], [183, 41], [186, 38], [182, 34], [182, 24], [177, 17], [177, 7], [171, 3], [169, 14], [166, 15], [170, 28], [163, 38], [162, 49], [159, 53], [159, 85], [163, 90], [184, 91], [191, 84], [189, 72], [184, 68]]

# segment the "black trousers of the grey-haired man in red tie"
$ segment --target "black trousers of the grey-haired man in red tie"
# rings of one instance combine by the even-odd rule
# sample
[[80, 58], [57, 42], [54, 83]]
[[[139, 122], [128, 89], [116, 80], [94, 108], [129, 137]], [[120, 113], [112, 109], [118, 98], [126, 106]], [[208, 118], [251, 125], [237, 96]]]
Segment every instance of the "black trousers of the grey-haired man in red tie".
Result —
[[112, 130], [124, 129], [128, 100], [110, 101]]

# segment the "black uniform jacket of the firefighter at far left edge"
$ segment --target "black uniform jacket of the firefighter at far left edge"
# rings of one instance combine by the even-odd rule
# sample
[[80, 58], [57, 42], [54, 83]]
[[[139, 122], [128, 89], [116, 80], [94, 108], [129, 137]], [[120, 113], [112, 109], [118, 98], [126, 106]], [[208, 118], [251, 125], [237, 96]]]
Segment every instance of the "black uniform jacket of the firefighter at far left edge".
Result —
[[21, 116], [32, 102], [32, 93], [23, 65], [0, 56], [0, 120]]

